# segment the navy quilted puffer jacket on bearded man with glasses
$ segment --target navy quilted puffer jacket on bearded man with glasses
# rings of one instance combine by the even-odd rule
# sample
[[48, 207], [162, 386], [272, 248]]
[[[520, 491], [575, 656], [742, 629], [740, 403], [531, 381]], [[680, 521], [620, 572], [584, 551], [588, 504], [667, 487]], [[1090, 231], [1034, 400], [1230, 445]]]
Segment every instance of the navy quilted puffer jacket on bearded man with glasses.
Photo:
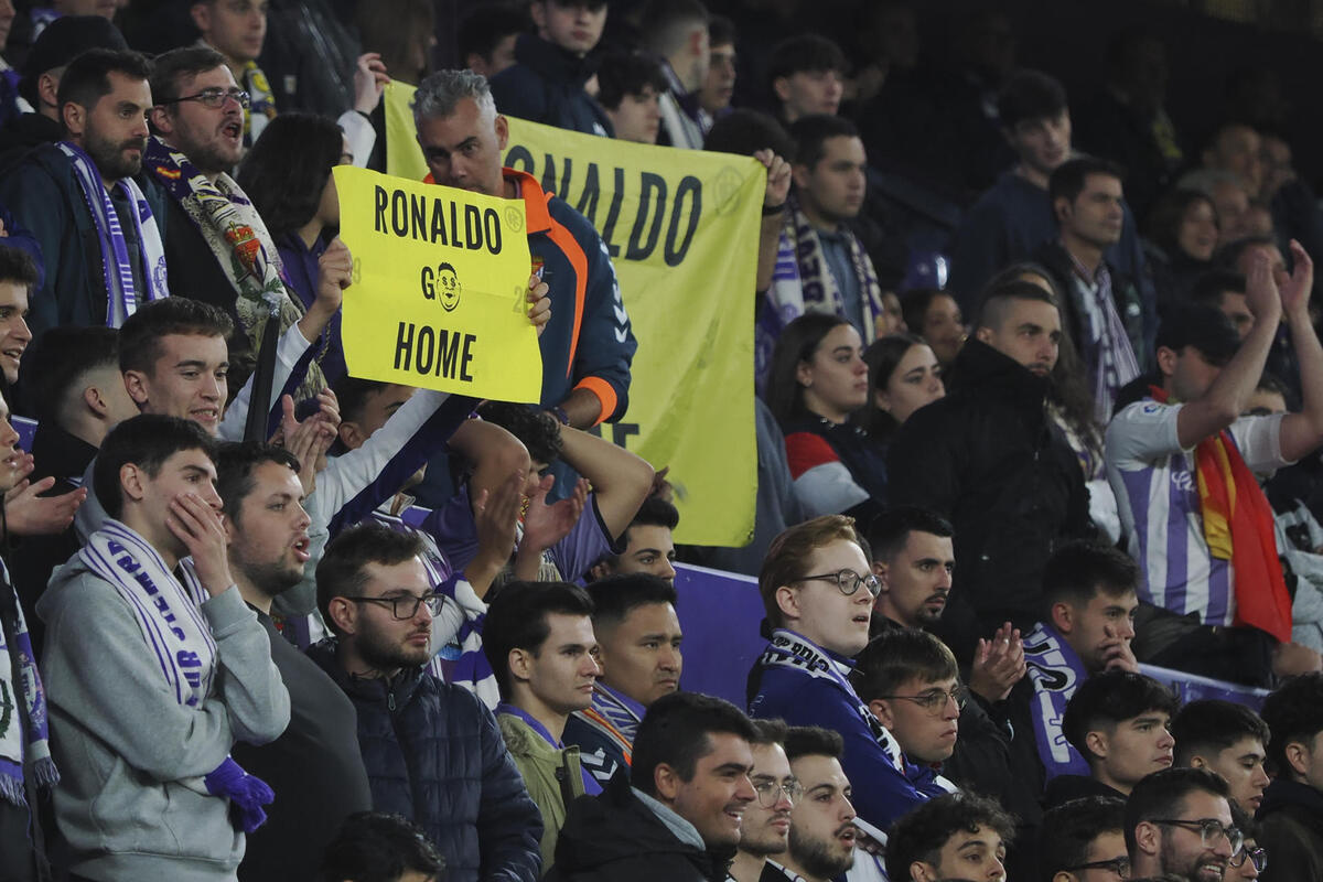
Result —
[[542, 819], [486, 705], [422, 668], [390, 684], [351, 677], [335, 640], [308, 656], [359, 710], [372, 807], [421, 824], [446, 858], [447, 882], [537, 882]]

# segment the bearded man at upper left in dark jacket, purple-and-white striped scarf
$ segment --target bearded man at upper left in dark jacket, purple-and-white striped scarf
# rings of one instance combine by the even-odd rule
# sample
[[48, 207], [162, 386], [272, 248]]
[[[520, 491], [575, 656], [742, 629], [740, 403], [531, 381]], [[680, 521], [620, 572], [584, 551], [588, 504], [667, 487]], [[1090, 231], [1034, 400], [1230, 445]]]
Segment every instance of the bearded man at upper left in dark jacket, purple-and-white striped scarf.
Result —
[[64, 140], [37, 147], [0, 180], [0, 202], [41, 245], [45, 280], [28, 316], [36, 337], [56, 325], [118, 328], [169, 294], [161, 205], [132, 180], [147, 147], [149, 74], [134, 52], [75, 58], [56, 98]]

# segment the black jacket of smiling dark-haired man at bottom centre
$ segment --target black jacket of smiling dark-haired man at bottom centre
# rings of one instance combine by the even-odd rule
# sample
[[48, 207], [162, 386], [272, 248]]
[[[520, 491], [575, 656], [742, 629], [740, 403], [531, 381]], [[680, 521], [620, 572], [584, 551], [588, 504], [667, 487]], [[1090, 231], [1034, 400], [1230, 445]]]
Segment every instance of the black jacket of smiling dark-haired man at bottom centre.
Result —
[[544, 882], [722, 882], [726, 863], [676, 837], [615, 775], [570, 804]]

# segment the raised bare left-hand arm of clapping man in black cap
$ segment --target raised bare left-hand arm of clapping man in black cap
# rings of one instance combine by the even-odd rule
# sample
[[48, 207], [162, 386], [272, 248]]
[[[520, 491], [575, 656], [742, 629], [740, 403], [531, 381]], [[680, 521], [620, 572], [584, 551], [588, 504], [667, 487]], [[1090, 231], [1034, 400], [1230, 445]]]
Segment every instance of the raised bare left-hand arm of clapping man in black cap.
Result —
[[[1301, 274], [1312, 279], [1312, 266], [1297, 263], [1289, 287], [1297, 283]], [[1277, 325], [1282, 320], [1282, 295], [1273, 280], [1266, 254], [1254, 255], [1245, 284], [1245, 304], [1254, 313], [1254, 328], [1208, 391], [1201, 398], [1185, 402], [1176, 417], [1176, 439], [1183, 450], [1189, 450], [1236, 422], [1263, 373], [1267, 350], [1273, 346]]]

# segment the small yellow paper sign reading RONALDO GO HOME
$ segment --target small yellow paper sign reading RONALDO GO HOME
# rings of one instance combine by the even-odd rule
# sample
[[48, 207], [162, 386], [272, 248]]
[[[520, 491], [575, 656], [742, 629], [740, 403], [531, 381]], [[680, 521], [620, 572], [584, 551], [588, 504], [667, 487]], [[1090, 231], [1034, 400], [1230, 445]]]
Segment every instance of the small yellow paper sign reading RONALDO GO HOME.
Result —
[[536, 402], [524, 204], [352, 165], [333, 173], [353, 254], [340, 323], [349, 373]]

